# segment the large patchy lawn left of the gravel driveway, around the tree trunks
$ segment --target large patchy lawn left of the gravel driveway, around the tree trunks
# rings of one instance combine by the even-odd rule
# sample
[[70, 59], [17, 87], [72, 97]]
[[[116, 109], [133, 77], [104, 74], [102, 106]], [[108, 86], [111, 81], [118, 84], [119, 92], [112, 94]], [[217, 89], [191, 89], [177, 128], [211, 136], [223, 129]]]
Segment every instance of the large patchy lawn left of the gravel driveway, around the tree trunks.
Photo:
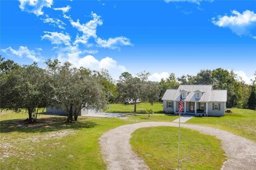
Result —
[[26, 125], [27, 114], [0, 115], [1, 169], [106, 169], [98, 138], [120, 125], [145, 121], [173, 121], [176, 116], [130, 115], [120, 118], [40, 115], [38, 123]]

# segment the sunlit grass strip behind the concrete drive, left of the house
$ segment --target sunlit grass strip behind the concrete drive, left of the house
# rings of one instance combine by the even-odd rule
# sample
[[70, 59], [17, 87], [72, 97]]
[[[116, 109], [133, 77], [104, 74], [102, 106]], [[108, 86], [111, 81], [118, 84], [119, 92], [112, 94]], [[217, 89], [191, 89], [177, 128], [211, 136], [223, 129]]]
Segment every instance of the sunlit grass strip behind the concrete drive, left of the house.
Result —
[[[108, 113], [132, 113], [134, 112], [134, 105], [124, 105], [124, 104], [110, 104], [108, 105], [109, 109], [104, 110]], [[154, 113], [164, 113], [163, 112], [163, 103], [137, 103], [137, 113], [146, 113], [146, 109], [152, 109]]]

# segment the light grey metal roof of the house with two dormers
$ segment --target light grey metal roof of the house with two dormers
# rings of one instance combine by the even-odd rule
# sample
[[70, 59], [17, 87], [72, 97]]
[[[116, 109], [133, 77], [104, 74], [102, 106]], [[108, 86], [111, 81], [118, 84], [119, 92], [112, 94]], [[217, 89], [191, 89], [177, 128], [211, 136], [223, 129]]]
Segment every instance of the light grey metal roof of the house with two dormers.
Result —
[[[227, 101], [226, 90], [212, 90], [212, 85], [180, 85], [177, 90], [168, 89], [164, 93], [162, 100], [180, 100], [180, 90], [186, 91], [186, 98], [183, 101], [198, 101], [198, 102], [209, 102], [209, 101]], [[196, 99], [196, 91], [201, 91], [200, 99]]]

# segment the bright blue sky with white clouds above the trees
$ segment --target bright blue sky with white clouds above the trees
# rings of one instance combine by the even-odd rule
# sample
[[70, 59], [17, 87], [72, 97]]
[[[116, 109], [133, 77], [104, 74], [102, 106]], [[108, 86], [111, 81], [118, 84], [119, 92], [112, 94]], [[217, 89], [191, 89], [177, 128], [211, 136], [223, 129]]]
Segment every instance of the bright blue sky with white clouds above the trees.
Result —
[[256, 1], [0, 1], [1, 54], [19, 64], [48, 58], [106, 68], [114, 79], [149, 71], [196, 75], [256, 71]]

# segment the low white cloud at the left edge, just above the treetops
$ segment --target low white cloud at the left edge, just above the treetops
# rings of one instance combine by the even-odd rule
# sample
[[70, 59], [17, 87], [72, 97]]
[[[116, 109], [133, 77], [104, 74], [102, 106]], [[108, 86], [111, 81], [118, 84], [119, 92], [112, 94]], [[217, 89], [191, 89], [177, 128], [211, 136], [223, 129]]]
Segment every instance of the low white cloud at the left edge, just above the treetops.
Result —
[[42, 61], [40, 53], [36, 53], [34, 50], [29, 50], [26, 46], [20, 46], [18, 50], [12, 49], [12, 47], [8, 47], [6, 49], [2, 49], [3, 52], [7, 53], [10, 51], [11, 54], [17, 55], [18, 57], [28, 57], [33, 61]]

